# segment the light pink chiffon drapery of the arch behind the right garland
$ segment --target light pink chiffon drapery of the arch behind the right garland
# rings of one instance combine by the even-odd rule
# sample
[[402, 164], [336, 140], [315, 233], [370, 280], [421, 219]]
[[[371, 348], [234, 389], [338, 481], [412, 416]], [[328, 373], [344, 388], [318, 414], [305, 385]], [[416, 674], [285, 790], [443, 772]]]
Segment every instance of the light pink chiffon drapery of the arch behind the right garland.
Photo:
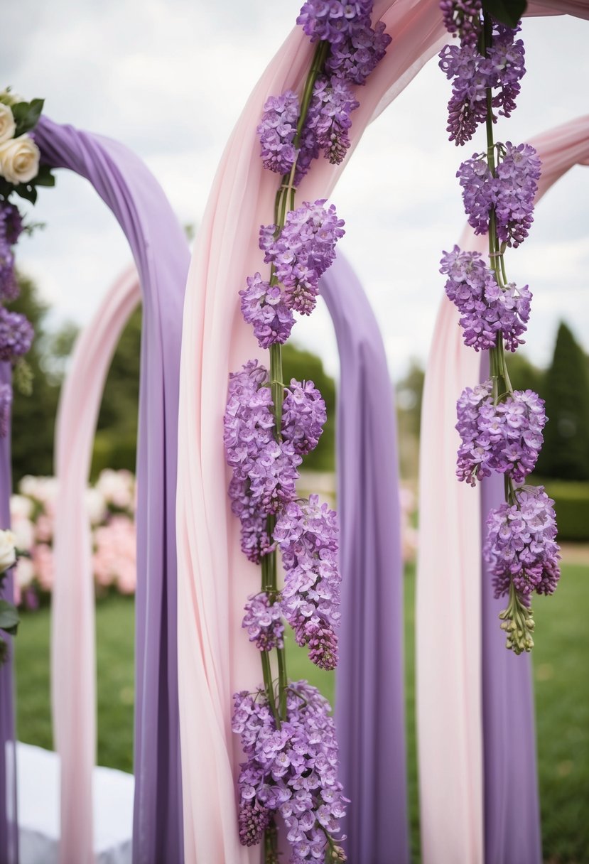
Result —
[[[589, 117], [530, 143], [542, 159], [539, 200], [573, 165], [589, 163]], [[459, 246], [485, 253], [487, 242], [468, 227]], [[484, 861], [480, 491], [456, 480], [454, 429], [456, 400], [466, 386], [478, 384], [481, 357], [464, 346], [458, 319], [443, 296], [421, 415], [416, 663], [427, 864]], [[497, 638], [504, 638], [498, 620]]]

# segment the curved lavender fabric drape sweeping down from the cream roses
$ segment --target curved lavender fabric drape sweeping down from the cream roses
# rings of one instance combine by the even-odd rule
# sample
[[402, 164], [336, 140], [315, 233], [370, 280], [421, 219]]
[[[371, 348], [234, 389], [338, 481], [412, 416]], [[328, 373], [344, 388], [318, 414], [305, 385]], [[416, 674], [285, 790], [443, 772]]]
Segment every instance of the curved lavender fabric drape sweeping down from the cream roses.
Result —
[[[175, 487], [186, 238], [153, 175], [122, 144], [46, 118], [35, 137], [45, 162], [84, 176], [111, 208], [141, 277], [133, 849], [142, 864], [181, 861]], [[64, 835], [64, 820], [75, 819], [62, 808]]]

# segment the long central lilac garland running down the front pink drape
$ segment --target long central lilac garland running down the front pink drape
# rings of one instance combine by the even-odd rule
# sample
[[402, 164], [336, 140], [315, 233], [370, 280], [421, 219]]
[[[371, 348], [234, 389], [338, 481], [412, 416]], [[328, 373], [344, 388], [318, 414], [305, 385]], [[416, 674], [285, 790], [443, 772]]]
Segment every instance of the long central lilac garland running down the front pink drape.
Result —
[[345, 861], [338, 836], [346, 799], [330, 707], [307, 682], [288, 682], [284, 653], [286, 620], [314, 664], [333, 670], [338, 662], [337, 516], [316, 495], [298, 499], [295, 489], [302, 456], [319, 441], [326, 407], [312, 381], [283, 383], [281, 346], [295, 313], [314, 310], [320, 276], [344, 234], [333, 205], [317, 200], [295, 208], [295, 193], [321, 153], [339, 164], [350, 147], [351, 115], [359, 105], [355, 88], [390, 43], [382, 22], [372, 28], [371, 11], [372, 0], [303, 5], [297, 23], [317, 45], [301, 100], [292, 90], [269, 98], [257, 127], [264, 167], [282, 181], [274, 222], [260, 228], [269, 276], [249, 276], [239, 295], [259, 346], [269, 348], [269, 370], [250, 360], [231, 374], [224, 429], [242, 550], [262, 570], [261, 591], [248, 598], [243, 626], [260, 651], [263, 686], [234, 696], [233, 730], [246, 758], [239, 777], [239, 836], [246, 846], [263, 842], [265, 864], [278, 861], [277, 815], [286, 825], [290, 861]]

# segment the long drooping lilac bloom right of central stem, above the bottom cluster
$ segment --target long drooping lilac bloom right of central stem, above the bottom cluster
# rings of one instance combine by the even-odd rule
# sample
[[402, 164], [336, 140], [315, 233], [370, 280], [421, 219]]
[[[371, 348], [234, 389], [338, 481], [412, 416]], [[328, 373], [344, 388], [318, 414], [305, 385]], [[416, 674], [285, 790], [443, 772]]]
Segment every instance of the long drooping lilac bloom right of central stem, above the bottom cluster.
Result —
[[282, 613], [298, 645], [309, 646], [309, 658], [321, 669], [335, 669], [339, 622], [337, 515], [319, 496], [291, 502], [280, 514], [274, 539], [285, 570]]

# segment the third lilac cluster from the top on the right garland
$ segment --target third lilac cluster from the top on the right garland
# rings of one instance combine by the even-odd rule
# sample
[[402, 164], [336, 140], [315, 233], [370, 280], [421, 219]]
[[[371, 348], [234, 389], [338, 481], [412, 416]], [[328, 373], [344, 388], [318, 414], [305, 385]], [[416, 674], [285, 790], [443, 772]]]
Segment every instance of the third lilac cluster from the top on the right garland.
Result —
[[492, 271], [478, 252], [463, 252], [454, 246], [444, 252], [440, 272], [448, 276], [446, 293], [460, 312], [460, 327], [466, 346], [486, 351], [497, 345], [497, 333], [503, 334], [505, 347], [516, 351], [523, 345], [532, 299], [527, 285], [517, 289], [514, 283], [499, 288]]

